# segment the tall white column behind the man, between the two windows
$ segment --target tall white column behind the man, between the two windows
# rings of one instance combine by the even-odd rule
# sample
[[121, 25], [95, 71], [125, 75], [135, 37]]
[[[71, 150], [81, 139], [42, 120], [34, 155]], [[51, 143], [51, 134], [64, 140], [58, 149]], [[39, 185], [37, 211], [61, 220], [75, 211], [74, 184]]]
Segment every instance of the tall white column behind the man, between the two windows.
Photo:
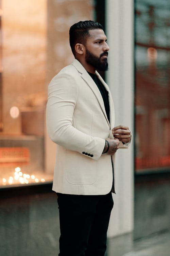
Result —
[[[134, 121], [134, 6], [133, 0], [106, 1], [106, 35], [109, 50], [107, 83], [115, 104], [115, 126], [129, 126]], [[109, 223], [108, 237], [133, 230], [134, 157], [133, 144], [128, 150], [116, 153], [116, 187], [114, 209]]]

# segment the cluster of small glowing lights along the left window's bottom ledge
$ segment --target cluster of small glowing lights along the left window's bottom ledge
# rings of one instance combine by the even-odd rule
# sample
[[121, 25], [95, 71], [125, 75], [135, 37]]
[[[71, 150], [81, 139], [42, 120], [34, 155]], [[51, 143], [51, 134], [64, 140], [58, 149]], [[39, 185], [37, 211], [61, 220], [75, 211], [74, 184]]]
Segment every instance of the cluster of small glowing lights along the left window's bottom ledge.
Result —
[[14, 171], [14, 176], [9, 176], [7, 179], [2, 179], [3, 185], [12, 185], [12, 184], [28, 184], [28, 183], [38, 183], [38, 182], [45, 182], [45, 179], [37, 178], [35, 175], [29, 175], [27, 173], [21, 172], [20, 167], [16, 167]]

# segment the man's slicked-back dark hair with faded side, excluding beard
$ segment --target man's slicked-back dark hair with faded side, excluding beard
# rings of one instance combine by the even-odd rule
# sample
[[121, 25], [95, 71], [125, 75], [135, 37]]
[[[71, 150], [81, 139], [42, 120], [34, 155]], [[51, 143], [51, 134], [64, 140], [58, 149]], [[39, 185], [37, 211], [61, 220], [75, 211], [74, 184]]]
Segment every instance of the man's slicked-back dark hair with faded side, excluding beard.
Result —
[[87, 37], [90, 36], [89, 30], [91, 29], [103, 29], [103, 26], [92, 20], [85, 20], [75, 23], [70, 27], [69, 35], [70, 35], [70, 46], [71, 51], [75, 56], [74, 46], [77, 43], [86, 45]]

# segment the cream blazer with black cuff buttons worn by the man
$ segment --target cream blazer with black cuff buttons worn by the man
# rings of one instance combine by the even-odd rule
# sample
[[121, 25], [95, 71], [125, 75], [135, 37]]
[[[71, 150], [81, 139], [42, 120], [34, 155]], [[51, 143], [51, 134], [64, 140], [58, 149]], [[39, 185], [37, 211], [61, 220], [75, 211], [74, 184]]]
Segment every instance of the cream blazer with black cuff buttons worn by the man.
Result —
[[110, 124], [100, 91], [78, 60], [49, 84], [47, 131], [57, 144], [52, 189], [58, 193], [105, 195], [111, 189], [115, 193], [114, 156], [102, 154], [105, 139], [113, 138], [114, 104], [109, 87], [96, 75], [108, 91]]

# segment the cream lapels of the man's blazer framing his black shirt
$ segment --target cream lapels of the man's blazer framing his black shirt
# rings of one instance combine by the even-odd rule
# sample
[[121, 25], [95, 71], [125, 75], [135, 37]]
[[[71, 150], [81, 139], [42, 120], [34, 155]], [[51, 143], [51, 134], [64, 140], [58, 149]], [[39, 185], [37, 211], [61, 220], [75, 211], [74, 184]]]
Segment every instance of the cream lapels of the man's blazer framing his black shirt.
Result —
[[[100, 107], [101, 107], [101, 109], [103, 111], [103, 114], [104, 114], [104, 116], [105, 116], [105, 118], [107, 120], [108, 126], [110, 127], [110, 124], [109, 124], [109, 121], [108, 121], [108, 118], [107, 118], [107, 114], [106, 114], [106, 111], [105, 111], [105, 106], [104, 106], [103, 98], [101, 96], [101, 93], [100, 93], [96, 83], [93, 81], [91, 76], [87, 73], [85, 68], [82, 66], [82, 64], [77, 59], [74, 59], [74, 61], [73, 61], [73, 63], [71, 65], [73, 65], [78, 70], [78, 72], [81, 73], [82, 79], [88, 84], [88, 86], [91, 88], [91, 90], [95, 94], [95, 96], [96, 96], [96, 98], [97, 98], [97, 100], [99, 102], [99, 105], [100, 105]], [[104, 82], [104, 80], [102, 79], [102, 77], [99, 75], [99, 73], [97, 71], [96, 71], [96, 75], [99, 78], [99, 80], [102, 82], [102, 84], [105, 86], [105, 88], [108, 91], [108, 93], [110, 93], [110, 90], [109, 90], [107, 84]], [[110, 96], [109, 96], [109, 98], [110, 98]], [[111, 116], [111, 109], [110, 109], [110, 116]]]

